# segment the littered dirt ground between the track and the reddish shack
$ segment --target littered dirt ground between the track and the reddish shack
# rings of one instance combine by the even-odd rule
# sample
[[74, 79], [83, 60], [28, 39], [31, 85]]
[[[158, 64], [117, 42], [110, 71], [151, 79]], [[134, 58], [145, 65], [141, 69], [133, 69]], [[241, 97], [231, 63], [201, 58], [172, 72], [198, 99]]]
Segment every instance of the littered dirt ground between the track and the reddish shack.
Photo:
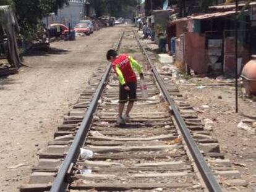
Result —
[[190, 104], [198, 110], [202, 119], [213, 122], [213, 135], [220, 142], [221, 152], [247, 180], [252, 191], [256, 191], [256, 143], [255, 133], [249, 133], [237, 125], [246, 115], [256, 116], [255, 102], [239, 99], [239, 114], [235, 113], [235, 93], [231, 86], [208, 86], [198, 89], [198, 85], [210, 85], [216, 80], [192, 78], [179, 88]]

